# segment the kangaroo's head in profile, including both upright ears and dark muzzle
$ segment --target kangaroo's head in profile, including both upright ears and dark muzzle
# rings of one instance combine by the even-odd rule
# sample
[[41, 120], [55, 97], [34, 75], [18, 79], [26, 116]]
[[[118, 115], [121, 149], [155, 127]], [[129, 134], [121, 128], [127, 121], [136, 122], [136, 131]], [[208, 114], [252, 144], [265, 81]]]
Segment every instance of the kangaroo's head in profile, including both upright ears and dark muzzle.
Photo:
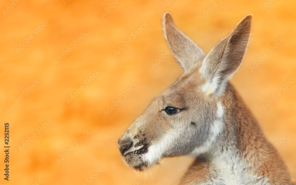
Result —
[[164, 36], [184, 74], [158, 94], [118, 140], [124, 162], [144, 170], [163, 157], [199, 155], [209, 151], [226, 128], [221, 100], [229, 78], [244, 58], [252, 16], [245, 16], [232, 32], [205, 55], [163, 16]]

